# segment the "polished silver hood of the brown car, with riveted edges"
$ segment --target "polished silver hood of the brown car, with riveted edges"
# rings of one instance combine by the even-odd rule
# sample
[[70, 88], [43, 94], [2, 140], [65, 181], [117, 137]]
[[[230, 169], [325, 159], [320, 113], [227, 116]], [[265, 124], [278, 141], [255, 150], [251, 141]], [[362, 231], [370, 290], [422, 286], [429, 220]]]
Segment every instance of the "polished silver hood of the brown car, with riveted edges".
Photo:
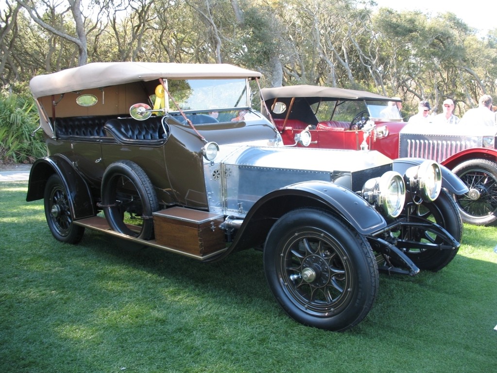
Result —
[[288, 147], [222, 146], [218, 159], [205, 163], [209, 209], [244, 217], [272, 190], [308, 181], [326, 181], [353, 191], [392, 170], [377, 151]]

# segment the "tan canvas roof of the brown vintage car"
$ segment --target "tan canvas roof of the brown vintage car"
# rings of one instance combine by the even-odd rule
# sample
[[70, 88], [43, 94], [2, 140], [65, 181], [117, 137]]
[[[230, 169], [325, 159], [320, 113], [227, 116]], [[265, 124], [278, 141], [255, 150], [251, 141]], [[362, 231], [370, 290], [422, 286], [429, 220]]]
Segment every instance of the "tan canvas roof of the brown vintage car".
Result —
[[261, 74], [228, 64], [95, 62], [31, 79], [35, 97], [158, 78], [257, 78]]

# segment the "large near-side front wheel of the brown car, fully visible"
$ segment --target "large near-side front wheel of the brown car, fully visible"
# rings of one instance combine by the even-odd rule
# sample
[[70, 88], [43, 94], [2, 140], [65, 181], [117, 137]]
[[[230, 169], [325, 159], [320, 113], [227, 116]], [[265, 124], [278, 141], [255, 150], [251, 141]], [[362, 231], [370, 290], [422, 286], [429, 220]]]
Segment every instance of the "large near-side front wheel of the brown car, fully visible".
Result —
[[344, 331], [373, 306], [378, 267], [369, 243], [325, 211], [290, 211], [273, 225], [264, 247], [269, 288], [298, 322]]

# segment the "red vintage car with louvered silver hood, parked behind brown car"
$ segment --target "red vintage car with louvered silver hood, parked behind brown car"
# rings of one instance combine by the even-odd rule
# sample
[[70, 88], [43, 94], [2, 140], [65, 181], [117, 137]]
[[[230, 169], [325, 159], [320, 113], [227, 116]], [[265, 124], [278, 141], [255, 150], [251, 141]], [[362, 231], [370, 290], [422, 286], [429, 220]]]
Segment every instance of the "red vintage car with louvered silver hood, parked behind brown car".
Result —
[[262, 89], [261, 96], [261, 111], [285, 144], [294, 144], [295, 135], [307, 129], [311, 147], [437, 161], [469, 188], [454, 195], [463, 221], [496, 223], [497, 126], [408, 125], [397, 108], [399, 99], [364, 91], [304, 85]]

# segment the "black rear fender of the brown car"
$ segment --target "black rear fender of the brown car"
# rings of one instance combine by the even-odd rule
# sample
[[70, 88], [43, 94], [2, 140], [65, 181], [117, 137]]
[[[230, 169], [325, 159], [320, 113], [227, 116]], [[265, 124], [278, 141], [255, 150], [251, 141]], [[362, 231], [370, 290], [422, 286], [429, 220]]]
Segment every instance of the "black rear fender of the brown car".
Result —
[[26, 201], [43, 199], [47, 180], [53, 174], [59, 175], [64, 183], [74, 219], [95, 216], [95, 204], [88, 185], [71, 161], [62, 155], [40, 158], [33, 164]]

